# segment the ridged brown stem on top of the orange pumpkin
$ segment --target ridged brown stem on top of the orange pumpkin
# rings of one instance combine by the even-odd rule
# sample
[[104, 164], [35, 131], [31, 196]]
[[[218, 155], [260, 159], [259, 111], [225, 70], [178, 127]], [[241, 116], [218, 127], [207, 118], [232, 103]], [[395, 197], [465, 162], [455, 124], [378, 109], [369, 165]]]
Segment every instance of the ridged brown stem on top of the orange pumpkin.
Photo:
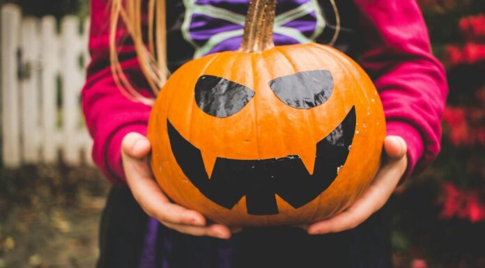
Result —
[[275, 47], [272, 39], [276, 0], [252, 0], [249, 3], [240, 52], [262, 52]]

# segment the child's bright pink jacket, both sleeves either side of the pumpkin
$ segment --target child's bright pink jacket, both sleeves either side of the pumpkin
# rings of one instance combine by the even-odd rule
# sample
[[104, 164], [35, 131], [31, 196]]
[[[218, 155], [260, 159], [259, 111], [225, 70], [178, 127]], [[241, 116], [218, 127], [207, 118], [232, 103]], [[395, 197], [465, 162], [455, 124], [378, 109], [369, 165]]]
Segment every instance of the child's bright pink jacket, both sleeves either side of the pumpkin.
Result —
[[[431, 54], [422, 14], [413, 0], [354, 0], [364, 31], [360, 64], [374, 79], [387, 120], [387, 134], [408, 145], [405, 177], [421, 171], [440, 151], [440, 116], [445, 106], [445, 70]], [[151, 107], [124, 97], [109, 67], [107, 3], [91, 1], [91, 63], [82, 90], [82, 104], [94, 139], [93, 159], [107, 178], [123, 184], [121, 141], [128, 132], [146, 134]], [[126, 33], [119, 29], [118, 36]], [[134, 48], [121, 47], [121, 65], [133, 84], [148, 86]]]

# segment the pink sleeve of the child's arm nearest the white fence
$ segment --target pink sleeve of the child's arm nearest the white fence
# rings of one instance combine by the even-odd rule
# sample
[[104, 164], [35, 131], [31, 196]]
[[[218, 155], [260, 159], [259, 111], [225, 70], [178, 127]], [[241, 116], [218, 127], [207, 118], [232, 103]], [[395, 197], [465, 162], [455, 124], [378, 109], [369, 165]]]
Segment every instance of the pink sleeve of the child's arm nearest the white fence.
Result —
[[[128, 132], [146, 134], [151, 107], [128, 100], [116, 86], [109, 62], [109, 1], [91, 1], [91, 30], [87, 81], [82, 90], [82, 107], [91, 136], [94, 139], [93, 160], [115, 184], [123, 184], [121, 140]], [[126, 36], [118, 29], [117, 36]], [[118, 40], [121, 40], [118, 38]], [[140, 70], [134, 47], [123, 40], [120, 62], [127, 77], [141, 92], [146, 82]]]

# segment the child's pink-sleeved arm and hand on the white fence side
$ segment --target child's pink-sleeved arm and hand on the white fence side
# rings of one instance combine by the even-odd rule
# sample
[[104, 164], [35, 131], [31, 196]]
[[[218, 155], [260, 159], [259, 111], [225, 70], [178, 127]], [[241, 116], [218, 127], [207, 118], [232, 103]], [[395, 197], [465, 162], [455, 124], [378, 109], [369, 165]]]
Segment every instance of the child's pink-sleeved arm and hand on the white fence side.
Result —
[[[155, 217], [165, 226], [191, 235], [229, 238], [229, 228], [208, 224], [199, 212], [171, 203], [153, 180], [148, 164], [150, 142], [144, 136], [151, 107], [132, 102], [123, 96], [111, 74], [109, 2], [91, 0], [91, 63], [82, 90], [84, 116], [94, 139], [95, 163], [111, 182], [128, 182], [134, 198], [146, 214]], [[126, 37], [127, 34], [118, 28], [117, 36], [119, 40], [119, 37]], [[118, 49], [121, 68], [126, 76], [134, 88], [146, 92], [148, 85], [130, 39], [125, 40]]]

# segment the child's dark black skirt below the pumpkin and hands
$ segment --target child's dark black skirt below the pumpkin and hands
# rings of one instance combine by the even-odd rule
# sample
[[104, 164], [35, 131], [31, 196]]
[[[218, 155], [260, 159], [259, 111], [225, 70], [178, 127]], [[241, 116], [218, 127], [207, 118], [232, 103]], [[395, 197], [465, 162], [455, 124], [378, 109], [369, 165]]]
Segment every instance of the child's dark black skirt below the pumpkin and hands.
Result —
[[[153, 263], [163, 268], [390, 268], [385, 209], [353, 230], [307, 235], [291, 227], [245, 228], [231, 239], [184, 235], [158, 224]], [[113, 188], [100, 228], [98, 268], [138, 268], [148, 216], [129, 189]]]

